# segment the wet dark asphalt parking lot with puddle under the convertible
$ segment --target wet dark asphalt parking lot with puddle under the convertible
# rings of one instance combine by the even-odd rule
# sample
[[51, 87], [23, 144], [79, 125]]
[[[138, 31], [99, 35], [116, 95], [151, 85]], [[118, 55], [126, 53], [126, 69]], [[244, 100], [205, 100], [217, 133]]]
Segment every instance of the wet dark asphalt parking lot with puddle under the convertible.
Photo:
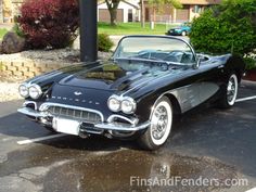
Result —
[[[228, 111], [205, 107], [185, 114], [156, 152], [101, 137], [51, 138], [16, 113], [22, 101], [0, 103], [0, 191], [247, 191], [256, 187], [256, 86], [242, 85], [239, 99]], [[139, 182], [176, 177], [218, 179], [220, 184]], [[230, 187], [227, 179], [247, 183]]]

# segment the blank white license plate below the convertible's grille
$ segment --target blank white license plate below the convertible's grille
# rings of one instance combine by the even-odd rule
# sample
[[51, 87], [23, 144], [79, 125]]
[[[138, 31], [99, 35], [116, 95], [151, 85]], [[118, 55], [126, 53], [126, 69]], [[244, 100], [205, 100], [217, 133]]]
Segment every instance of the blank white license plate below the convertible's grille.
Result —
[[63, 133], [74, 135], [74, 136], [79, 135], [80, 125], [81, 125], [80, 121], [61, 118], [61, 117], [55, 117], [52, 120], [52, 127], [57, 132], [63, 132]]

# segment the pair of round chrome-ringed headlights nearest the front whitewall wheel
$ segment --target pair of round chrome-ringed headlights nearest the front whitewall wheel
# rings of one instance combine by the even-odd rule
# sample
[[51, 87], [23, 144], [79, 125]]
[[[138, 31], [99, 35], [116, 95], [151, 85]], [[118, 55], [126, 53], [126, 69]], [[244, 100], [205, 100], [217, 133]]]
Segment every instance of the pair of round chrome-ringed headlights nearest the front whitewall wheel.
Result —
[[[115, 107], [113, 107], [113, 103], [116, 103]], [[127, 104], [130, 105], [130, 110], [125, 108], [125, 107], [127, 107], [126, 106]], [[132, 114], [132, 113], [135, 113], [135, 111], [137, 108], [137, 103], [130, 97], [119, 97], [119, 95], [113, 94], [107, 100], [107, 106], [112, 112], [115, 112], [115, 113], [123, 112], [125, 114]]]

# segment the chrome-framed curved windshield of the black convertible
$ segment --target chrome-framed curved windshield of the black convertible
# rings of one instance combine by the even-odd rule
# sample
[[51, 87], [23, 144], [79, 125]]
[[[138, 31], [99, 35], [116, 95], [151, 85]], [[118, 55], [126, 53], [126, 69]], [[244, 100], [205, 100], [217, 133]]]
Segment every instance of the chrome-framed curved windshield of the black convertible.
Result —
[[169, 37], [124, 38], [114, 53], [114, 60], [140, 60], [166, 62], [172, 64], [194, 64], [195, 57], [184, 41]]

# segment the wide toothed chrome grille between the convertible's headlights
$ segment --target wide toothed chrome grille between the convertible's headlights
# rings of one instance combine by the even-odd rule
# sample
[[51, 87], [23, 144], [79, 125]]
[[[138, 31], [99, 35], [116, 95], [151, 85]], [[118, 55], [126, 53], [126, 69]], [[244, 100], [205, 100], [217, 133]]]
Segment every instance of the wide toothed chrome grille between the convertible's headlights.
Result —
[[93, 112], [68, 108], [63, 106], [49, 106], [48, 111], [54, 116], [77, 118], [86, 123], [102, 121], [101, 116], [98, 113]]

